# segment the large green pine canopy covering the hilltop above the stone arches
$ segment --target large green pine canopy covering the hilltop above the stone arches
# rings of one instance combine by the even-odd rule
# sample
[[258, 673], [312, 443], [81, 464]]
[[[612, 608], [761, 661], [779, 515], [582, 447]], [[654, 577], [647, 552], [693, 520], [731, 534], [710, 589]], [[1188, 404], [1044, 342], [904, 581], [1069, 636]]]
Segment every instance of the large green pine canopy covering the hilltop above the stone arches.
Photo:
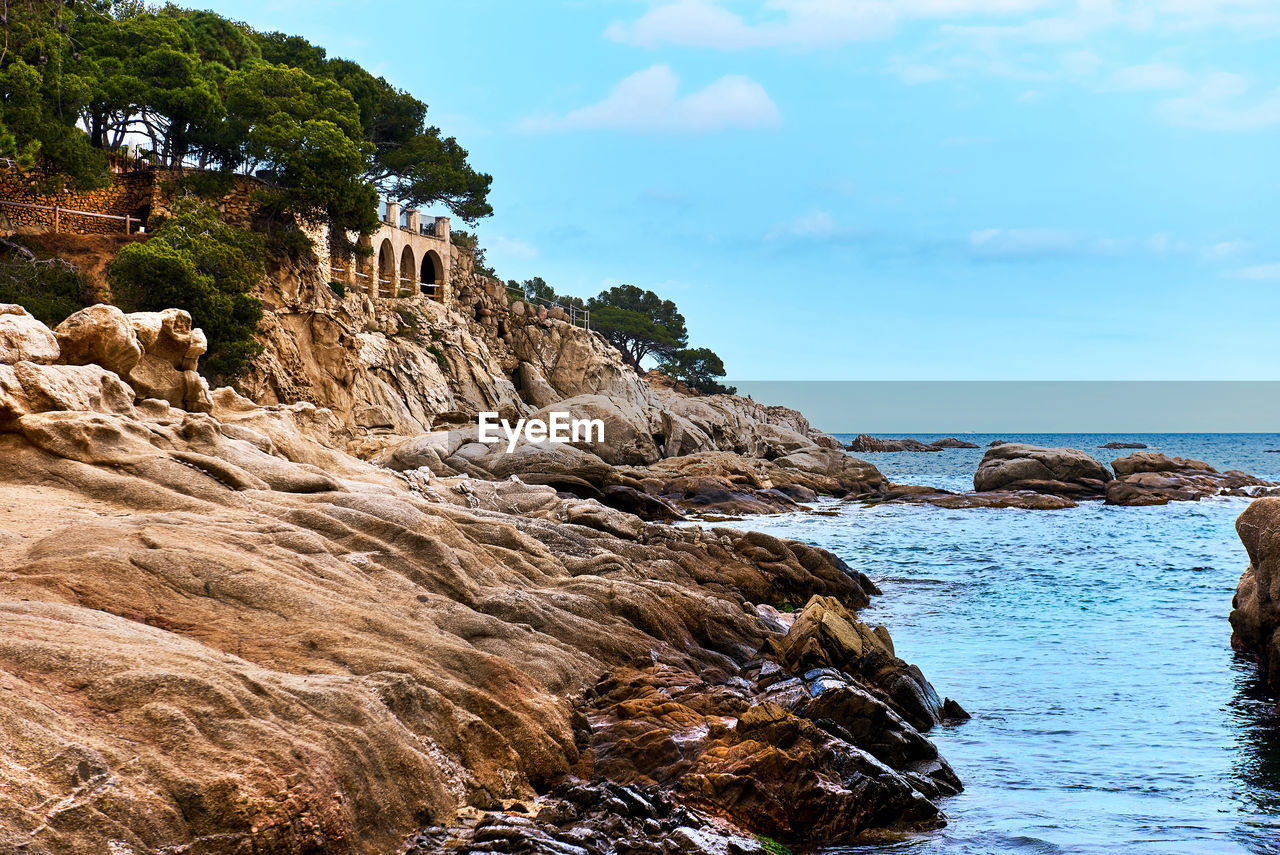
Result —
[[428, 106], [297, 36], [137, 0], [12, 0], [0, 50], [0, 154], [101, 184], [104, 152], [146, 140], [164, 166], [260, 172], [282, 210], [356, 230], [376, 195], [493, 212], [492, 178]]

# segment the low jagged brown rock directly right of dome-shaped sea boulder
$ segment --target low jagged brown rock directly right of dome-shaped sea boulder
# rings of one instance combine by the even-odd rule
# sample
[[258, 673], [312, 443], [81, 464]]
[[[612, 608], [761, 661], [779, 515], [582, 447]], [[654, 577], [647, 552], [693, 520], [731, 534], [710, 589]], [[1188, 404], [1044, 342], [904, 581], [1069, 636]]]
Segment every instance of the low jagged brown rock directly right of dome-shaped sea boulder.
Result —
[[1280, 485], [1239, 471], [1219, 472], [1204, 461], [1135, 452], [1112, 461], [1107, 504], [1148, 506], [1197, 502], [1211, 495], [1265, 495]]

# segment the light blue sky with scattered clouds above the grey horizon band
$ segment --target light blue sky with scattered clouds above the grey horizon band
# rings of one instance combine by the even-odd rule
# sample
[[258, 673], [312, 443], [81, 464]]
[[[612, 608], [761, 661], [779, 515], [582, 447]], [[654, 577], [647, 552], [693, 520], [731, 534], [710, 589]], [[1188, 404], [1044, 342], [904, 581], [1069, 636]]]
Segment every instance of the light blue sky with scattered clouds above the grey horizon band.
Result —
[[1277, 0], [207, 8], [425, 100], [499, 274], [652, 288], [730, 379], [1280, 374]]

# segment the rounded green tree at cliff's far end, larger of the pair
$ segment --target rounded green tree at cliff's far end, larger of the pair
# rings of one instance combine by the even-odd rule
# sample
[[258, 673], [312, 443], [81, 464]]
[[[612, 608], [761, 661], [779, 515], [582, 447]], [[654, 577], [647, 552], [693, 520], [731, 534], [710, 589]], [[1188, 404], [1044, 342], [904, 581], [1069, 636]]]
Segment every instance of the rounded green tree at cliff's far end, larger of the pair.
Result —
[[588, 301], [591, 326], [622, 351], [636, 370], [653, 356], [659, 360], [689, 343], [685, 316], [676, 303], [635, 285], [616, 285]]

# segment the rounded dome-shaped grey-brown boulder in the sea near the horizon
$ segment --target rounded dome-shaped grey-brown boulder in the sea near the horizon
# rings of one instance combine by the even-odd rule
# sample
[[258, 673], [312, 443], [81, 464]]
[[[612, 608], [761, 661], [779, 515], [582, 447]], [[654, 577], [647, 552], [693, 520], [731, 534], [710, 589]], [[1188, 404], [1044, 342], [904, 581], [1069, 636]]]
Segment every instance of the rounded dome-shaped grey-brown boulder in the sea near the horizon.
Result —
[[1074, 448], [1004, 443], [987, 451], [973, 476], [979, 493], [1029, 490], [1069, 499], [1102, 498], [1111, 472]]

